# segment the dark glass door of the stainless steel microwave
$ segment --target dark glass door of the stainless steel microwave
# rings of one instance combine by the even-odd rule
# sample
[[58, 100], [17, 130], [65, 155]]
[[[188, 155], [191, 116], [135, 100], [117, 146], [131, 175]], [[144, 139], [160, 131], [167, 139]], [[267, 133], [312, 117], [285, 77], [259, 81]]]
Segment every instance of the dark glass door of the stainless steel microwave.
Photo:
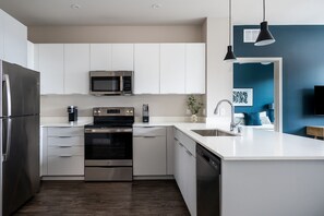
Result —
[[122, 94], [122, 76], [91, 76], [91, 94], [120, 95]]

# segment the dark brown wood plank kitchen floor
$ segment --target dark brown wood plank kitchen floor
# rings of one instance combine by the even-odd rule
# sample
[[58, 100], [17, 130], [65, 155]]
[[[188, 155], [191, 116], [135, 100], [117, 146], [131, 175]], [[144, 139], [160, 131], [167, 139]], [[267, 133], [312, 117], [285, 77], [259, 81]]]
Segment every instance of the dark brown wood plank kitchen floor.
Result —
[[175, 181], [44, 181], [15, 215], [190, 215]]

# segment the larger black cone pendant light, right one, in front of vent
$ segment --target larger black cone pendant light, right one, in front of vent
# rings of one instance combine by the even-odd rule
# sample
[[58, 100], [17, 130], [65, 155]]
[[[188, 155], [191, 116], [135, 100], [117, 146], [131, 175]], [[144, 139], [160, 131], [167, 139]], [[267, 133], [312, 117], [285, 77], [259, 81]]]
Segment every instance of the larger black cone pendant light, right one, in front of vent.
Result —
[[254, 43], [254, 46], [266, 46], [275, 41], [275, 38], [268, 31], [267, 22], [265, 21], [265, 0], [263, 0], [263, 22], [260, 24], [260, 34]]

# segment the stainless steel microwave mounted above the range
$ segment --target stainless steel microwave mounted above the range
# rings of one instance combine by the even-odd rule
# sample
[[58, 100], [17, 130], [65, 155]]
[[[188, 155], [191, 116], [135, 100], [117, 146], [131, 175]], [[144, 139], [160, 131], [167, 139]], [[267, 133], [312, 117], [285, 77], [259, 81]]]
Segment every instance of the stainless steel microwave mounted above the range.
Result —
[[132, 95], [133, 71], [91, 71], [92, 95]]

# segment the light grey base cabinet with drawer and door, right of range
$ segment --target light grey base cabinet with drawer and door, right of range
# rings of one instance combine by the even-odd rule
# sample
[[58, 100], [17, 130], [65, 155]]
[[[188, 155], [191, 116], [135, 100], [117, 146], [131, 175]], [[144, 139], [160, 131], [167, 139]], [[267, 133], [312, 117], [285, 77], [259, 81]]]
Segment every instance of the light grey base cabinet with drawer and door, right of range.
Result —
[[134, 176], [167, 175], [165, 127], [134, 128], [133, 169]]

